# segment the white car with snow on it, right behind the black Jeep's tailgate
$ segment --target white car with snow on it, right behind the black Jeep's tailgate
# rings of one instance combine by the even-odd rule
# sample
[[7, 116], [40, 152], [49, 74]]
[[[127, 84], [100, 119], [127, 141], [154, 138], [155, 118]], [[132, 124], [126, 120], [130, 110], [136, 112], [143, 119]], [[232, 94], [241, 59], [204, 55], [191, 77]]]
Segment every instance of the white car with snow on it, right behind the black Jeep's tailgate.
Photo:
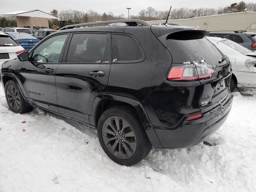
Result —
[[226, 56], [232, 65], [230, 90], [236, 87], [256, 88], [256, 52], [234, 41], [220, 37], [206, 37]]

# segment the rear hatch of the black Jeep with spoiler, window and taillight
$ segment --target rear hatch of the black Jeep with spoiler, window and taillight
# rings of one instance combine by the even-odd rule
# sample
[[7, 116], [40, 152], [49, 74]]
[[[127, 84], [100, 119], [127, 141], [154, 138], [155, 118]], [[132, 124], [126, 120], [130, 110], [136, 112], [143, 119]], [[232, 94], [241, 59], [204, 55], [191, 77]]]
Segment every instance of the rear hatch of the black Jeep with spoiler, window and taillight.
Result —
[[[168, 76], [168, 80], [200, 82], [200, 94], [194, 99], [198, 100], [202, 112], [211, 110], [229, 98], [232, 72], [228, 58], [204, 37], [206, 34], [205, 30], [185, 28], [158, 37], [172, 56], [168, 74], [174, 68], [174, 77], [169, 79]], [[177, 75], [180, 72], [181, 76]]]

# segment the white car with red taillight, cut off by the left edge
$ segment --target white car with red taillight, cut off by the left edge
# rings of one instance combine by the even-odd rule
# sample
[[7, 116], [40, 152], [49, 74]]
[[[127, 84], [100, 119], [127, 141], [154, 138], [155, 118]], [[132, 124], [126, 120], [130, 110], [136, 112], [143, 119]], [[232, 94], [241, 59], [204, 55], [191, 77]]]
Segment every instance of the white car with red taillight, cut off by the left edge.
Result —
[[24, 48], [10, 38], [10, 36], [0, 32], [0, 68], [2, 68], [4, 61], [17, 58], [17, 55], [24, 51]]

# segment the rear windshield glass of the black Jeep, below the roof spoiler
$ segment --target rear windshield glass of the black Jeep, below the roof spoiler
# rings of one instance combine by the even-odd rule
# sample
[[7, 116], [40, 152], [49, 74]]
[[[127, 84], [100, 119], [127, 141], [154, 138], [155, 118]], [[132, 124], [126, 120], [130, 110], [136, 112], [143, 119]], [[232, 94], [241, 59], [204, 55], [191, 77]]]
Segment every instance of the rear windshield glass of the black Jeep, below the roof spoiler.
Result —
[[172, 55], [173, 63], [201, 61], [204, 59], [209, 64], [218, 66], [218, 61], [223, 57], [220, 51], [202, 36], [198, 39], [193, 35], [191, 39], [184, 37], [168, 39], [167, 37], [166, 42], [167, 49]]

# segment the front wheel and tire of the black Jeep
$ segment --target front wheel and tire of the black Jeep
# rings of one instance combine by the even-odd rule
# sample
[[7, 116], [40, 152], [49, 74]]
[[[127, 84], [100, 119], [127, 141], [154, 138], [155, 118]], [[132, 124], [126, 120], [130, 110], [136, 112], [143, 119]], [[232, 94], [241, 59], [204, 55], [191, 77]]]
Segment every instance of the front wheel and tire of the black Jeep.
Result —
[[14, 80], [9, 80], [6, 82], [4, 93], [8, 107], [12, 112], [26, 113], [33, 109], [32, 106], [29, 106], [24, 100], [22, 94], [20, 93], [20, 89]]

